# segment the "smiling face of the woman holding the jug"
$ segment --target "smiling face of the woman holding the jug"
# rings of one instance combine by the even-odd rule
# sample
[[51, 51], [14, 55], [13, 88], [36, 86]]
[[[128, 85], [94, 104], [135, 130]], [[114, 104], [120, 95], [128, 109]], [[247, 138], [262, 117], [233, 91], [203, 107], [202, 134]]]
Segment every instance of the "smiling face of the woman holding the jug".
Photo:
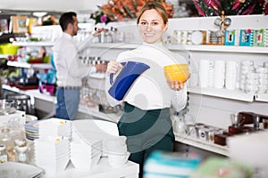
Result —
[[161, 42], [167, 24], [163, 23], [161, 15], [155, 9], [150, 9], [141, 15], [138, 29], [144, 42], [155, 44]]

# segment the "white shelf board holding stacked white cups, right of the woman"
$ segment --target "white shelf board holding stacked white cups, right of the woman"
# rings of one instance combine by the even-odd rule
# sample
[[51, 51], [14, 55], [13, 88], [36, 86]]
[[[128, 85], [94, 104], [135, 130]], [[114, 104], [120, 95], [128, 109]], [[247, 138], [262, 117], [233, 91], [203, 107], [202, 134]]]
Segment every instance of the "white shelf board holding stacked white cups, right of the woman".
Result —
[[[245, 93], [239, 90], [227, 90], [227, 89], [218, 89], [218, 88], [200, 88], [200, 87], [189, 87], [189, 93], [198, 93], [208, 96], [214, 96], [219, 98], [226, 98], [230, 100], [237, 101], [254, 101], [255, 94]], [[267, 100], [268, 101], [268, 100]]]

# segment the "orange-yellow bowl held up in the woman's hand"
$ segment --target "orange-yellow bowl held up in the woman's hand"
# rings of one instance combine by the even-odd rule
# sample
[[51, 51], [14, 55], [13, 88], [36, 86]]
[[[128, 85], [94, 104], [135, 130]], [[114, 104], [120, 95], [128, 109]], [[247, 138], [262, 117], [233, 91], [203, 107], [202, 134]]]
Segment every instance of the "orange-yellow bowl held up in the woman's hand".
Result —
[[164, 66], [164, 76], [169, 82], [181, 81], [186, 82], [189, 75], [188, 64], [172, 64], [169, 66]]

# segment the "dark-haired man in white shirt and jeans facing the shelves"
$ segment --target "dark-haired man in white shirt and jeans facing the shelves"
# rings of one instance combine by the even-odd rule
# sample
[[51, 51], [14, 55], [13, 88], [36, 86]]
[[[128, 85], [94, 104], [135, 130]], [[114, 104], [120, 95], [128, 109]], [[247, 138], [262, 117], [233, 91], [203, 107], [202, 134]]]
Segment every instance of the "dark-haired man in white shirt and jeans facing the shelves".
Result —
[[86, 77], [88, 71], [105, 71], [106, 64], [96, 66], [81, 65], [78, 53], [91, 43], [91, 38], [78, 46], [73, 39], [79, 30], [77, 14], [65, 12], [61, 15], [59, 23], [63, 29], [63, 35], [54, 44], [54, 63], [57, 77], [57, 91], [55, 106], [55, 117], [73, 120], [78, 114], [80, 103], [80, 88], [82, 78]]

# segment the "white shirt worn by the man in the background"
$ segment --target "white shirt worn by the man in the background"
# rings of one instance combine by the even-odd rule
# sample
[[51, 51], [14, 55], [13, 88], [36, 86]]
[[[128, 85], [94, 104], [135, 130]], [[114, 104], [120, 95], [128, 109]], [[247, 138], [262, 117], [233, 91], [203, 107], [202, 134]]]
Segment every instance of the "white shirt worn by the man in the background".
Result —
[[90, 41], [88, 39], [77, 46], [72, 36], [67, 33], [57, 39], [53, 50], [58, 86], [81, 86], [81, 78], [86, 77], [90, 69], [96, 71], [96, 68], [88, 68], [78, 59], [78, 53], [86, 48]]

